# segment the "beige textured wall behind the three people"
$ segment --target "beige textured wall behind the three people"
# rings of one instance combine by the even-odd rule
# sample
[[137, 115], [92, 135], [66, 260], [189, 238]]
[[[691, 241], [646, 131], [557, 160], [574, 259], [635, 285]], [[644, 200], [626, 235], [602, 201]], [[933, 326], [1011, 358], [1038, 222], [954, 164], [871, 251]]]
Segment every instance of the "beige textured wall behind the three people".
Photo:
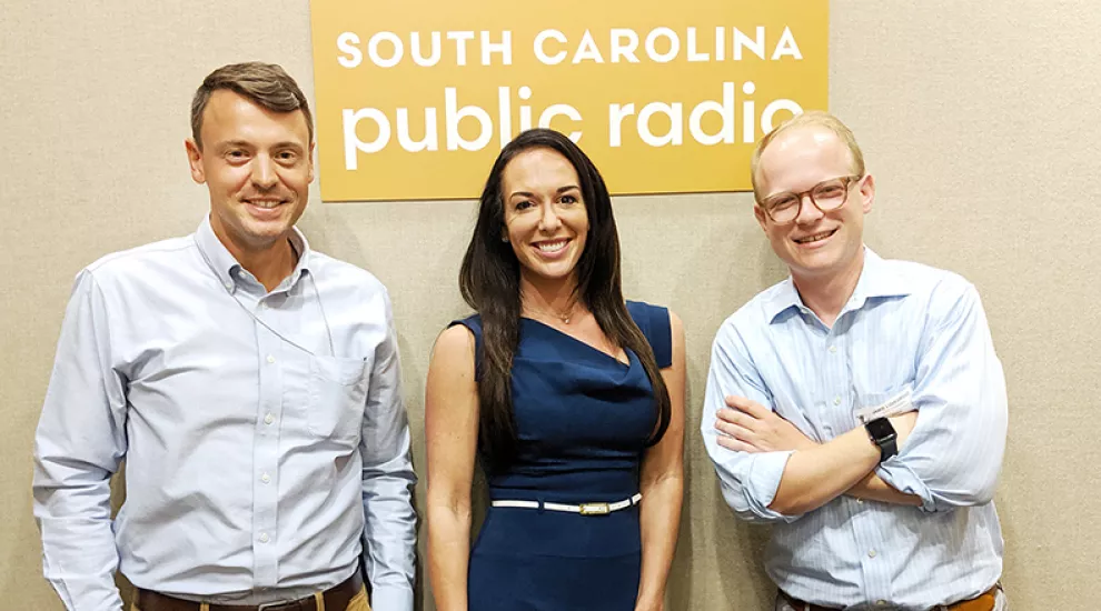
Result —
[[[983, 294], [1011, 404], [998, 507], [1019, 610], [1087, 609], [1101, 549], [1101, 79], [1095, 0], [832, 3], [831, 104], [877, 180], [867, 242], [956, 270]], [[194, 88], [242, 59], [311, 91], [308, 6], [4, 2], [0, 14], [0, 605], [59, 609], [40, 577], [31, 443], [73, 274], [184, 234], [206, 191], [181, 141]], [[316, 196], [315, 196], [316, 197]], [[720, 322], [784, 276], [745, 194], [619, 198], [627, 293], [688, 341], [688, 490], [672, 609], [764, 609], [762, 528], [734, 521], [695, 430]], [[417, 463], [423, 388], [456, 290], [470, 202], [313, 203], [321, 250], [386, 282]], [[423, 499], [423, 488], [418, 490]], [[427, 605], [430, 608], [430, 605]]]

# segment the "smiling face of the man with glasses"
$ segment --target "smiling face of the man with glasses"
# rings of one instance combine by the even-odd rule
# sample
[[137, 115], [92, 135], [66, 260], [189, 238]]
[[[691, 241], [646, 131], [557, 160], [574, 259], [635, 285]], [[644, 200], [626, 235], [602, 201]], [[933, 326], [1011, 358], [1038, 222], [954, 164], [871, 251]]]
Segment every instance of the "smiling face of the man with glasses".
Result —
[[[853, 160], [833, 131], [807, 126], [785, 131], [770, 142], [761, 153], [757, 171], [761, 200], [765, 201], [852, 174]], [[823, 213], [804, 196], [792, 222], [774, 222], [760, 206], [754, 207], [754, 213], [796, 282], [829, 281], [863, 266], [864, 214], [872, 210], [874, 196], [872, 177], [864, 176], [849, 187], [849, 199], [837, 210]]]

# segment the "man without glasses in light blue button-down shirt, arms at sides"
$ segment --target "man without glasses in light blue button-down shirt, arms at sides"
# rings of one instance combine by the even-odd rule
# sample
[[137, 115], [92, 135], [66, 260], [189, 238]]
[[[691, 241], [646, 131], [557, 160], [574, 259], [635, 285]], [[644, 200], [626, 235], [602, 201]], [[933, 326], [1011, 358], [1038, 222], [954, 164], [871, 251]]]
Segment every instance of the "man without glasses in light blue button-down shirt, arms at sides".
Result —
[[[82, 270], [34, 444], [67, 609], [411, 611], [409, 429], [386, 289], [309, 248], [306, 97], [222, 67], [191, 107], [198, 230]], [[126, 460], [112, 521], [109, 479]], [[363, 562], [360, 562], [363, 559]], [[278, 604], [285, 603], [285, 604]]]

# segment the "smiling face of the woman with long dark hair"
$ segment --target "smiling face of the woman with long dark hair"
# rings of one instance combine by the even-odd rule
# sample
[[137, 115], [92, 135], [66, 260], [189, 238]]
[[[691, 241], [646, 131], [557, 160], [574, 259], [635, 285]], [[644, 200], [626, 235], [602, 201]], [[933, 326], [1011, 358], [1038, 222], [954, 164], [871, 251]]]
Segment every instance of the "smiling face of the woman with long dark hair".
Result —
[[577, 170], [550, 149], [517, 154], [502, 173], [505, 236], [529, 283], [576, 282], [588, 212]]

